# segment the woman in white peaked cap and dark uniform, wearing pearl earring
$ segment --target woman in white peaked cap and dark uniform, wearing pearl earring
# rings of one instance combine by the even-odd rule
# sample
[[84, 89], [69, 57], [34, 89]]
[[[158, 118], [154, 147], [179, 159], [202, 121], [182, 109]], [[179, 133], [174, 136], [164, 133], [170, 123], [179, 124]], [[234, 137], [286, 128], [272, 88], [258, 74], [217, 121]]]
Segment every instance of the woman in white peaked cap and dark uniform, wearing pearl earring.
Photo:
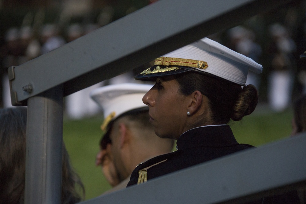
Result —
[[[156, 58], [155, 65], [135, 79], [155, 81], [143, 102], [156, 135], [177, 139], [177, 151], [139, 164], [128, 186], [252, 148], [239, 144], [228, 124], [254, 111], [258, 92], [245, 82], [249, 70], [262, 69], [208, 38]], [[291, 198], [297, 198], [296, 192], [252, 203], [298, 203]]]

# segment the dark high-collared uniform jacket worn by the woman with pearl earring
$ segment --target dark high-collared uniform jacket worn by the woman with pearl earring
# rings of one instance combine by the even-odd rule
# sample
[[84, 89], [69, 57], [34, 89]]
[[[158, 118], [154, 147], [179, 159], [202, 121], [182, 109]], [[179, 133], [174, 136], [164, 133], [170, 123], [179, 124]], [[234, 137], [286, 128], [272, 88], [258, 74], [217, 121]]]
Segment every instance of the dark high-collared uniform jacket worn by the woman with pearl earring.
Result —
[[[129, 187], [131, 185], [137, 184], [139, 177], [138, 172], [141, 169], [147, 170], [147, 180], [150, 180], [158, 176], [197, 165], [205, 161], [222, 157], [237, 151], [245, 150], [250, 147], [253, 146], [247, 144], [239, 144], [235, 139], [230, 126], [228, 125], [203, 126], [194, 128], [183, 133], [177, 140], [177, 151], [169, 154], [163, 154], [146, 162], [140, 163], [132, 172], [131, 179], [127, 186]], [[158, 162], [161, 163], [156, 164]], [[293, 194], [294, 198], [289, 199], [297, 199], [298, 201], [297, 194]], [[263, 203], [279, 203], [273, 202], [273, 200], [275, 200], [274, 198], [271, 199], [272, 202]], [[294, 201], [281, 203], [293, 204], [299, 202]]]

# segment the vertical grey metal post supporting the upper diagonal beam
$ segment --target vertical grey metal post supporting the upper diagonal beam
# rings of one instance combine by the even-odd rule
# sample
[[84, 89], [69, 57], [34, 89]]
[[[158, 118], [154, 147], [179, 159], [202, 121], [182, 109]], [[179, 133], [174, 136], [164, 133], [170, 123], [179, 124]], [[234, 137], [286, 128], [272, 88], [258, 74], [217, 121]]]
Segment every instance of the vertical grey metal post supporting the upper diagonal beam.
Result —
[[28, 99], [25, 204], [61, 202], [63, 87]]

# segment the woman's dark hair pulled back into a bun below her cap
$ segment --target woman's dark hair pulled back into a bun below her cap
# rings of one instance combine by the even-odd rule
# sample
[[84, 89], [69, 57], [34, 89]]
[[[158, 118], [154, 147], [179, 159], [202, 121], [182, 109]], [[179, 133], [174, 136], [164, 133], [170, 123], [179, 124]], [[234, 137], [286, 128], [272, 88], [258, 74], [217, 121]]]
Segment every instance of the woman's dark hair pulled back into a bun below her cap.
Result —
[[240, 121], [251, 114], [258, 103], [253, 85], [242, 87], [220, 77], [188, 72], [175, 77], [184, 95], [200, 91], [209, 99], [214, 124], [227, 124], [230, 119]]

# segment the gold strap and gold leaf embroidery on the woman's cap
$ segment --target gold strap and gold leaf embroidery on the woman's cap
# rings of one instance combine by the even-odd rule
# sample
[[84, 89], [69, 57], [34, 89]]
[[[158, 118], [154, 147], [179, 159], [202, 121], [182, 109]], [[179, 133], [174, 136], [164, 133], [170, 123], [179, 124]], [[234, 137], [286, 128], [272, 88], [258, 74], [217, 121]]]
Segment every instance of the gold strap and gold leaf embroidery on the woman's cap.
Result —
[[[199, 69], [206, 69], [208, 67], [207, 62], [199, 61], [199, 60], [191, 60], [191, 59], [183, 59], [183, 58], [174, 58], [174, 57], [159, 57], [154, 60], [154, 65], [163, 65], [166, 68], [161, 68], [160, 66], [156, 66], [155, 69], [150, 70], [146, 69], [140, 74], [154, 74], [159, 72], [167, 72], [180, 69], [180, 67], [173, 66], [185, 66], [185, 67], [193, 67]], [[170, 67], [168, 67], [170, 66]]]

